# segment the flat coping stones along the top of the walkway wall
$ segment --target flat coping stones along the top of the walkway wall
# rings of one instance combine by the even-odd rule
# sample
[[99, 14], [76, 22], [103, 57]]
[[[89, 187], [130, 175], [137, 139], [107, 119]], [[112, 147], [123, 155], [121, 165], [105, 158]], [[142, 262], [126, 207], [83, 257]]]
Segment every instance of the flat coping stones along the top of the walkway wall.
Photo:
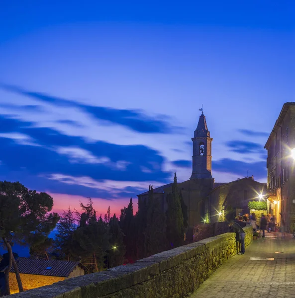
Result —
[[[243, 228], [250, 233], [252, 226]], [[198, 242], [121, 265], [106, 271], [78, 276], [50, 286], [13, 294], [13, 298], [98, 298], [148, 281], [152, 276], [180, 265], [218, 245], [235, 238], [235, 233], [224, 233]]]

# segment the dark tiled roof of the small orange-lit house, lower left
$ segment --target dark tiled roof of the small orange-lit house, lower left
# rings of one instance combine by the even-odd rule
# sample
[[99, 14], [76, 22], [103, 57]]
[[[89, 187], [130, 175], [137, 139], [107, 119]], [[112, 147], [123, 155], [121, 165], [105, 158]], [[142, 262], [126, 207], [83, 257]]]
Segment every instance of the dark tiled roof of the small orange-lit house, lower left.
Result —
[[[79, 265], [79, 262], [75, 261], [43, 260], [31, 258], [18, 258], [16, 262], [19, 273], [60, 277], [68, 277], [70, 273]], [[6, 267], [2, 268], [1, 271], [4, 271]], [[14, 272], [13, 266], [11, 267], [10, 272]]]

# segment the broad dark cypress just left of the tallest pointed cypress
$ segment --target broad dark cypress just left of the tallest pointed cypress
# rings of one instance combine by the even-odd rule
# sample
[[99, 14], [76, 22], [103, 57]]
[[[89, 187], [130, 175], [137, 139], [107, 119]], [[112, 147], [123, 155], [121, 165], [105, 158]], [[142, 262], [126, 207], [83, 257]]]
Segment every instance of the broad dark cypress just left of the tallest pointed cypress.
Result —
[[145, 252], [147, 256], [164, 251], [167, 248], [166, 217], [160, 201], [154, 197], [153, 186], [149, 187], [147, 203], [147, 225], [145, 229]]

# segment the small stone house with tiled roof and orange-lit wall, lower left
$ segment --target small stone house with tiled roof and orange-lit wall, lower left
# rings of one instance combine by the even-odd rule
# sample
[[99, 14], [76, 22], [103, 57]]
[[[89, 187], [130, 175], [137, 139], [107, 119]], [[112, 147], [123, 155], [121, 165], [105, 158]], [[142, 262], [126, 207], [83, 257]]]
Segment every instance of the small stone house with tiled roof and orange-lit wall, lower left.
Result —
[[[0, 263], [0, 285], [2, 288], [5, 286], [4, 270], [7, 267], [5, 255], [3, 255], [3, 260]], [[84, 269], [79, 262], [75, 261], [16, 257], [16, 262], [25, 291], [84, 275]], [[13, 266], [9, 272], [9, 287], [11, 294], [19, 292]]]

